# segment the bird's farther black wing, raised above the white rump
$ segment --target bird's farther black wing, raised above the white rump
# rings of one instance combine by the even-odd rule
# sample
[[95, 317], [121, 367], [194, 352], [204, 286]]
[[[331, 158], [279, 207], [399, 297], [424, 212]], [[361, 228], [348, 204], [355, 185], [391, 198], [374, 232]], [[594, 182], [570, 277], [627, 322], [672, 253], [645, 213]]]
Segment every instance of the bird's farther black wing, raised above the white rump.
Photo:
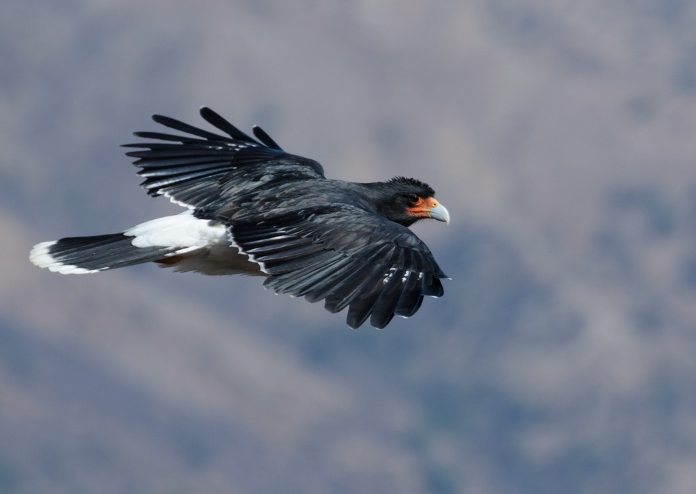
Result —
[[134, 165], [142, 168], [138, 175], [145, 177], [141, 185], [150, 196], [166, 196], [190, 208], [205, 207], [220, 200], [221, 182], [242, 168], [253, 168], [257, 180], [265, 173], [274, 173], [276, 166], [283, 168], [286, 180], [324, 177], [317, 161], [284, 152], [260, 127], [253, 127], [257, 141], [205, 106], [200, 109], [200, 116], [228, 135], [153, 115], [155, 122], [191, 135], [136, 132], [138, 137], [166, 142], [124, 145], [143, 149], [126, 154], [137, 158]]

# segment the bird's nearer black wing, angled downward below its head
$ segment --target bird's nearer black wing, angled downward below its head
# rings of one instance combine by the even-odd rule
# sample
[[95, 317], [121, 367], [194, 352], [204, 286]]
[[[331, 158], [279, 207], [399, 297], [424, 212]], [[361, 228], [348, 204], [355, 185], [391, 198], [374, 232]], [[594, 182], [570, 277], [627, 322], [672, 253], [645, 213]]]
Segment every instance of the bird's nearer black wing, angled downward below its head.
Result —
[[303, 209], [230, 225], [232, 242], [269, 277], [276, 293], [348, 307], [347, 324], [383, 328], [409, 317], [423, 296], [441, 296], [445, 274], [411, 230], [357, 207]]

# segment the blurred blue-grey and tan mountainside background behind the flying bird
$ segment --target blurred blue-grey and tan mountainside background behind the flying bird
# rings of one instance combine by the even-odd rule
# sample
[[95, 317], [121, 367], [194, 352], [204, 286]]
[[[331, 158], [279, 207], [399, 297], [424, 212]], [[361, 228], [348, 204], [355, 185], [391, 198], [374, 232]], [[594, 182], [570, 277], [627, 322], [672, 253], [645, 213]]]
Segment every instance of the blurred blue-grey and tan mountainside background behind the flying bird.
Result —
[[[0, 492], [696, 492], [696, 4], [0, 4]], [[29, 249], [180, 212], [119, 148], [259, 124], [431, 184], [377, 331], [258, 278]]]

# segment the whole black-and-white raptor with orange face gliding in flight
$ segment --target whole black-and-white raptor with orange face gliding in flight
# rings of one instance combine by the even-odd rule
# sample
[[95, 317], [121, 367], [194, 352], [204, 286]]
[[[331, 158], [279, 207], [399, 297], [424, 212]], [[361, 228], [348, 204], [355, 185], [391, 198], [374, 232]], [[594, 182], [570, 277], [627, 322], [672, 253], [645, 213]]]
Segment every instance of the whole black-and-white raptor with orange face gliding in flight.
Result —
[[33, 264], [58, 273], [96, 273], [143, 262], [208, 275], [264, 276], [278, 294], [348, 308], [347, 324], [385, 327], [442, 296], [446, 278], [409, 226], [450, 214], [420, 180], [329, 180], [312, 159], [283, 151], [260, 127], [244, 134], [211, 109], [200, 115], [227, 135], [153, 115], [188, 135], [136, 132], [126, 144], [150, 196], [187, 211], [122, 233], [37, 244]]

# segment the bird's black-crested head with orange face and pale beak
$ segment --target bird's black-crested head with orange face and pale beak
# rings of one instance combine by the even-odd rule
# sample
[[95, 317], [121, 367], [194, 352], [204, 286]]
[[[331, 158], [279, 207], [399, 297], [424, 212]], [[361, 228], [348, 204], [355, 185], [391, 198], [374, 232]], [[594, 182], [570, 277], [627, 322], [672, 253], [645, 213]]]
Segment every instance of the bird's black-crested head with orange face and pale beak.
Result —
[[450, 213], [435, 198], [431, 186], [414, 178], [395, 177], [383, 182], [381, 214], [391, 221], [410, 226], [418, 220], [431, 218], [450, 223]]

